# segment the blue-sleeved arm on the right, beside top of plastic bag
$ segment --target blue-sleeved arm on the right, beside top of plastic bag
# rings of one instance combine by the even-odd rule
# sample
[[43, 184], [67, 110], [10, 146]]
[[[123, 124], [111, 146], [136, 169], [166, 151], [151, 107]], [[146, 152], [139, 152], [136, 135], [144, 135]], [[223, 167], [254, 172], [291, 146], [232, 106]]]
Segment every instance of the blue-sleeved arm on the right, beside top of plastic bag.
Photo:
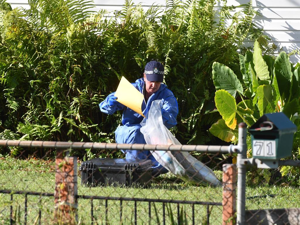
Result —
[[164, 99], [163, 108], [161, 109], [164, 125], [170, 129], [177, 124], [176, 117], [178, 114], [178, 103], [174, 95]]

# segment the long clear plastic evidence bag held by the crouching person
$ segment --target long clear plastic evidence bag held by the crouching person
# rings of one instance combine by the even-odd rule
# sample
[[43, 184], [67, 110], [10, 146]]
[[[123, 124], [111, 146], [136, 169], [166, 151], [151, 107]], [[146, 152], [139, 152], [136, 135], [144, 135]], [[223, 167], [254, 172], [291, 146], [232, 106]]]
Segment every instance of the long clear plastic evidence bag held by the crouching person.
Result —
[[[181, 145], [174, 135], [165, 127], [161, 116], [162, 102], [152, 102], [148, 119], [141, 122], [140, 131], [147, 144], [151, 145]], [[180, 151], [151, 151], [154, 158], [178, 178], [193, 184], [204, 186], [222, 185], [214, 172], [188, 152]]]

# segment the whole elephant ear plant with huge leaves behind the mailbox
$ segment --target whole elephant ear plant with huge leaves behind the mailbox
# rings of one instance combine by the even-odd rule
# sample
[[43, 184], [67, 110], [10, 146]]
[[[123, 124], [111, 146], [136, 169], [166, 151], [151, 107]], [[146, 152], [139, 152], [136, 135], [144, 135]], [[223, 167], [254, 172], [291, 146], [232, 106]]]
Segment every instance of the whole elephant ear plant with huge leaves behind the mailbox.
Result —
[[[299, 130], [299, 64], [293, 67], [285, 52], [280, 52], [276, 59], [262, 56], [257, 41], [253, 53], [248, 50], [245, 55], [239, 55], [239, 62], [241, 80], [223, 64], [214, 62], [212, 66], [217, 90], [215, 104], [222, 119], [209, 131], [230, 142], [235, 140], [238, 123], [251, 126], [263, 114], [274, 112], [284, 112]], [[297, 136], [300, 137], [298, 132]]]

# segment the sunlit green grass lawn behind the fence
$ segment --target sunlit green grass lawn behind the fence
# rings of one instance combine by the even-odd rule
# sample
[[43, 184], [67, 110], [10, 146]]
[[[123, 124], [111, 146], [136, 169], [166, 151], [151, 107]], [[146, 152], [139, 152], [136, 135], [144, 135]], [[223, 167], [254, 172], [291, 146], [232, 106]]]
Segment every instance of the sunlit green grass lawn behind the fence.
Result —
[[[35, 191], [54, 192], [55, 173], [54, 162], [44, 160], [16, 160], [12, 158], [0, 158], [0, 189], [14, 191]], [[221, 179], [221, 171], [216, 171]], [[78, 174], [80, 181], [80, 173]], [[150, 188], [124, 188], [124, 187], [84, 187], [78, 184], [79, 195], [135, 197], [151, 199], [174, 199], [192, 201], [222, 201], [222, 188], [196, 187], [181, 182], [171, 174], [161, 175], [153, 180]], [[292, 208], [300, 207], [300, 190], [296, 187], [285, 186], [257, 186], [246, 188], [246, 197], [276, 195], [275, 197], [262, 197], [246, 200], [247, 209], [265, 208]], [[42, 210], [42, 224], [52, 223], [53, 218], [53, 197], [28, 196], [27, 224], [38, 224], [38, 211]], [[10, 224], [10, 205], [13, 205], [13, 215], [16, 224], [24, 224], [24, 196], [13, 195], [13, 202], [10, 195], [0, 194], [0, 224]], [[94, 224], [105, 224], [105, 201], [93, 200], [95, 220]], [[170, 205], [177, 218], [177, 205]], [[190, 205], [182, 205], [186, 212], [188, 224], [192, 223], [192, 210]], [[151, 203], [151, 220], [149, 223], [148, 202], [137, 202], [137, 224], [162, 224], [162, 203]], [[180, 206], [181, 207], [181, 206]], [[156, 217], [155, 210], [158, 217]], [[222, 207], [213, 206], [210, 208], [210, 224], [221, 224]], [[78, 200], [79, 224], [91, 224], [91, 201], [89, 199]], [[206, 206], [195, 205], [195, 224], [205, 224]], [[109, 224], [120, 224], [120, 202], [108, 201]], [[134, 202], [122, 202], [123, 224], [134, 224]], [[170, 224], [166, 208], [166, 224]]]

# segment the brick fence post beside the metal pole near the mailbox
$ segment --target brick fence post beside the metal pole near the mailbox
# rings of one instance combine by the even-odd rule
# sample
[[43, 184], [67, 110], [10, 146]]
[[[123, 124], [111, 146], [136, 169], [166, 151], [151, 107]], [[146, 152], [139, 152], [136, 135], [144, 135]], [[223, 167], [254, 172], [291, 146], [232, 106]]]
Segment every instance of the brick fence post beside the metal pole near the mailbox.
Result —
[[236, 224], [236, 165], [223, 165], [223, 225]]

